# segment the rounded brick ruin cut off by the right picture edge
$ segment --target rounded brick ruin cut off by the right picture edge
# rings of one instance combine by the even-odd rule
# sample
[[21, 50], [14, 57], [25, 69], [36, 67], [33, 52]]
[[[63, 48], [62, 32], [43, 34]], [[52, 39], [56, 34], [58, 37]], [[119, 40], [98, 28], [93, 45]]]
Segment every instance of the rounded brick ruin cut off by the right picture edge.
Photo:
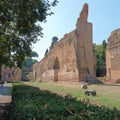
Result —
[[107, 79], [120, 82], [120, 29], [114, 30], [108, 38], [106, 68]]

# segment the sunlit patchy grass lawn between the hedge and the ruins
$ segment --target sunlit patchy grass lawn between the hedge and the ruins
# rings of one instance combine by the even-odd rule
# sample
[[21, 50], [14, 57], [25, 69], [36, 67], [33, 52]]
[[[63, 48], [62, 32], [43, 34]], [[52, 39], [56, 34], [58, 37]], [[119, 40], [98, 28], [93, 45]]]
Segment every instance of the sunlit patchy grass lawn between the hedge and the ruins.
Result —
[[[26, 82], [25, 84], [61, 95], [70, 94], [78, 100], [86, 98], [84, 95], [86, 90], [80, 88], [80, 83]], [[120, 109], [120, 85], [88, 85], [88, 90], [91, 89], [96, 90], [97, 96], [87, 97], [90, 103]]]

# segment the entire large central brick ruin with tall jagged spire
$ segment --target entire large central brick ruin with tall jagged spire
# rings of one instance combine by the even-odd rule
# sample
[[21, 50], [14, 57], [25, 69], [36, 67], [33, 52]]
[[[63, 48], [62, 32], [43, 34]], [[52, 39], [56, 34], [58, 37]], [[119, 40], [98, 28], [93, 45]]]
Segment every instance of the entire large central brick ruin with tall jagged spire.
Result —
[[55, 43], [47, 57], [34, 64], [36, 81], [82, 81], [95, 77], [95, 56], [92, 44], [92, 23], [87, 22], [88, 4], [85, 3], [77, 20], [76, 29]]

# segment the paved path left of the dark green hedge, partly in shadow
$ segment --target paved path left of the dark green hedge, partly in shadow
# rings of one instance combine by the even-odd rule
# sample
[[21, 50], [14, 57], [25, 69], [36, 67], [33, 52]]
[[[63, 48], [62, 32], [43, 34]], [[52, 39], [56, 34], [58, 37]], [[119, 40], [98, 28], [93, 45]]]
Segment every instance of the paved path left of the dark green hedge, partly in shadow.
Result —
[[9, 120], [11, 104], [11, 84], [0, 86], [0, 120]]

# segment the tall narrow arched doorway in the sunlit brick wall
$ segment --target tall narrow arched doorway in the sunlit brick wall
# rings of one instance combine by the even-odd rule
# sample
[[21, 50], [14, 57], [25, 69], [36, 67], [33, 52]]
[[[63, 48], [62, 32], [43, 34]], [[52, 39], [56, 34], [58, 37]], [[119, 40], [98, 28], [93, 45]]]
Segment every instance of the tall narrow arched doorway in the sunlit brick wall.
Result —
[[55, 58], [53, 69], [54, 69], [54, 82], [58, 82], [58, 72], [59, 72], [59, 69], [60, 69], [60, 64], [59, 64], [58, 57]]

